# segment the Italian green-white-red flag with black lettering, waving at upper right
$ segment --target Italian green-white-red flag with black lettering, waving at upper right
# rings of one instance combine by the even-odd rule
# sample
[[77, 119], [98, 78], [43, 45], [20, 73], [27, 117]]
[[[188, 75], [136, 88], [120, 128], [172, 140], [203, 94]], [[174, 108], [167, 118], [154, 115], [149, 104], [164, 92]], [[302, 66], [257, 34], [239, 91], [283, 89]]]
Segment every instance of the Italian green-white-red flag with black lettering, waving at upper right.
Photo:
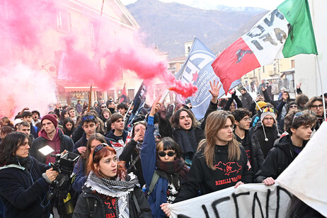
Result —
[[286, 0], [212, 63], [227, 93], [249, 71], [296, 54], [318, 54], [307, 0]]

